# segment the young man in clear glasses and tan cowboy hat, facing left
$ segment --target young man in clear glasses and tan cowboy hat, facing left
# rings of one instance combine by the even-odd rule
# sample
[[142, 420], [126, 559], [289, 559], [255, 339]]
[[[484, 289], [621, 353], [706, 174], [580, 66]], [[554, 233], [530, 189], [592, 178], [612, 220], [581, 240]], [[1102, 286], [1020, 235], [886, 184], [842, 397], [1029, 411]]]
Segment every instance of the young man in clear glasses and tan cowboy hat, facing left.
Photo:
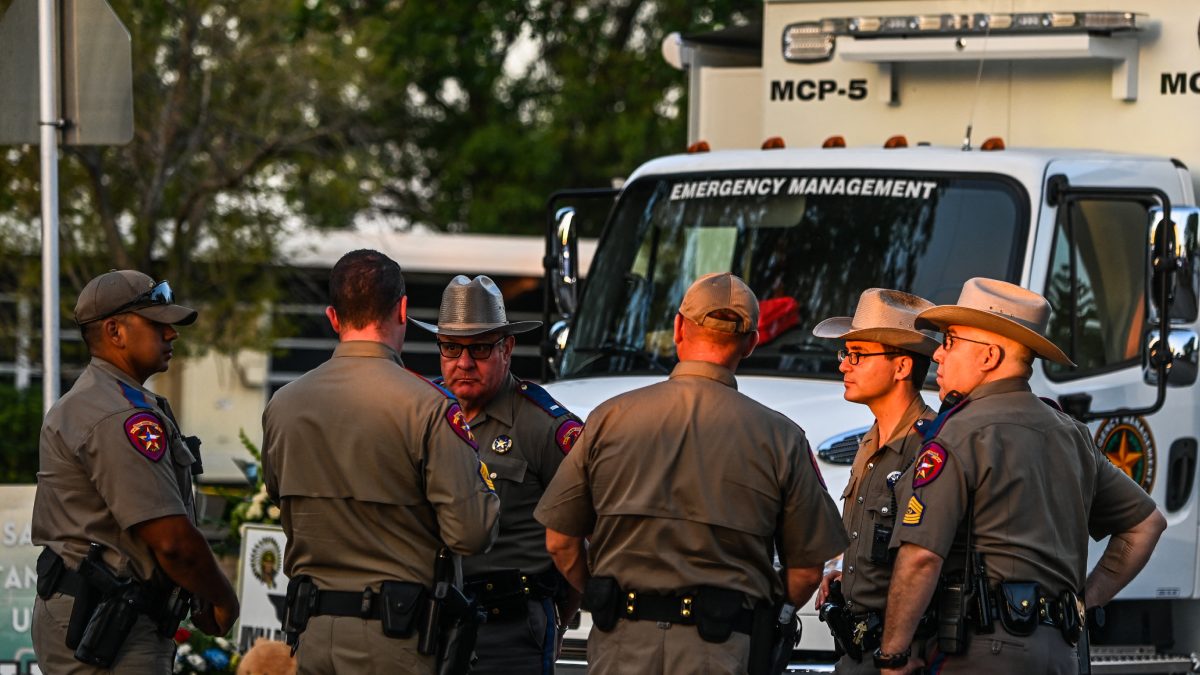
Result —
[[[875, 416], [841, 495], [850, 546], [827, 566], [817, 592], [820, 607], [829, 596], [830, 583], [840, 581], [844, 605], [835, 611], [845, 619], [829, 625], [847, 653], [835, 673], [878, 673], [871, 653], [883, 634], [883, 605], [892, 579], [888, 544], [896, 520], [894, 489], [920, 448], [917, 422], [932, 417], [920, 388], [937, 340], [913, 327], [917, 315], [931, 306], [910, 293], [869, 288], [859, 297], [853, 317], [827, 318], [812, 329], [817, 338], [845, 341], [838, 352], [845, 398], [868, 406]], [[838, 634], [838, 628], [852, 632]]]

